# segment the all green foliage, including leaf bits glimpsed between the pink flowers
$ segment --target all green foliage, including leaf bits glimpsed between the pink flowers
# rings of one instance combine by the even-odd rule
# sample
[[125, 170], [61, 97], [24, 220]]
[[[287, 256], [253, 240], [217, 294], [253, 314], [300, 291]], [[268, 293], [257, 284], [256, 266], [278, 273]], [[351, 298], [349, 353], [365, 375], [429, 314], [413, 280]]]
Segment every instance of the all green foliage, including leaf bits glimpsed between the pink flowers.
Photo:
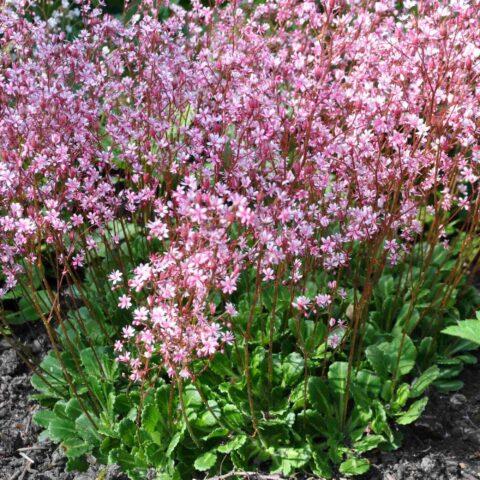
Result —
[[[60, 3], [55, 0], [45, 11], [33, 12], [47, 18]], [[108, 0], [102, 8], [121, 16], [123, 3]], [[190, 5], [188, 0], [171, 3]], [[127, 19], [139, 4], [131, 2]], [[169, 14], [167, 7], [158, 10], [162, 19]], [[68, 27], [72, 38], [82, 22]], [[183, 135], [181, 129], [193, 120], [192, 108], [179, 106], [167, 141]], [[112, 152], [113, 166], [124, 177], [138, 176], [129, 172], [128, 162], [115, 158], [118, 147], [100, 130], [99, 141]], [[288, 146], [288, 138], [285, 141], [291, 160], [298, 152], [295, 145]], [[227, 142], [225, 164], [233, 161], [234, 153]], [[164, 189], [163, 172], [156, 170], [152, 175]], [[180, 174], [173, 180], [172, 191], [179, 178]], [[123, 181], [119, 175], [118, 182]], [[375, 239], [366, 256], [364, 247], [352, 242], [349, 266], [338, 272], [339, 277], [347, 272], [339, 282], [345, 296], [333, 293], [325, 272], [312, 264], [311, 269], [305, 265], [302, 271], [308, 275], [296, 290], [290, 272], [278, 285], [263, 282], [253, 305], [258, 272], [250, 269], [231, 298], [214, 292], [210, 299], [218, 311], [229, 300], [238, 309], [233, 346], [198, 360], [194, 380], [185, 380], [181, 389], [178, 379], [163, 371], [152, 372], [143, 384], [132, 383], [112, 349], [131, 320], [117, 308], [124, 289], [119, 284], [112, 291], [106, 278], [120, 269], [126, 281], [126, 272], [168, 248], [170, 240], [163, 244], [146, 232], [151, 213], [125, 212], [101, 233], [92, 232], [97, 249], [85, 248], [80, 235], [72, 251], [84, 249], [86, 258], [83, 267], [67, 276], [73, 284], [62, 284], [58, 272], [44, 271], [46, 267], [23, 264], [23, 282], [2, 298], [2, 333], [42, 319], [58, 343], [31, 380], [34, 398], [43, 407], [35, 422], [44, 429], [43, 437], [62, 446], [72, 471], [86, 470], [87, 458], [93, 455], [100, 463], [120, 465], [132, 480], [146, 478], [150, 469], [162, 480], [257, 468], [285, 476], [298, 471], [322, 478], [362, 475], [370, 466], [365, 453], [398, 448], [403, 426], [421, 416], [429, 390], [461, 388], [459, 374], [476, 361], [469, 351], [480, 344], [480, 314], [477, 320], [464, 319], [478, 309], [480, 295], [466, 275], [454, 280], [452, 272], [474, 260], [471, 253], [478, 243], [472, 252], [462, 252], [466, 234], [450, 224], [445, 227], [450, 249], [417, 242], [407, 260], [394, 266], [385, 266], [382, 254], [372, 253]], [[323, 214], [313, 209], [311, 213]], [[428, 220], [420, 223], [431, 226]], [[433, 227], [432, 237], [438, 233]], [[325, 229], [338, 233], [338, 225]], [[109, 243], [103, 235], [113, 235], [115, 241]], [[67, 244], [70, 241], [74, 240]], [[41, 249], [45, 258], [58, 254], [52, 245]], [[305, 255], [302, 260], [308, 264], [311, 259]], [[288, 268], [288, 261], [282, 266]], [[318, 293], [329, 292], [335, 299], [328, 309], [303, 315], [292, 308], [299, 292], [312, 303]], [[359, 304], [364, 310], [355, 316]], [[245, 335], [252, 317], [251, 332]], [[332, 326], [331, 318], [342, 323]], [[451, 336], [459, 340], [452, 342]], [[334, 337], [339, 339], [335, 348], [330, 341]]]

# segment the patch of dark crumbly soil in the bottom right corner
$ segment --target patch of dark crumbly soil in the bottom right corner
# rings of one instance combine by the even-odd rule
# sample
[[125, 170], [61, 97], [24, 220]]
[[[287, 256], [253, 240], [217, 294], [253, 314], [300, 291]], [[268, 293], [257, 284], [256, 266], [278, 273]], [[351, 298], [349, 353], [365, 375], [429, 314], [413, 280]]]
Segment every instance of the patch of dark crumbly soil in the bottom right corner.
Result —
[[403, 446], [372, 456], [365, 480], [480, 479], [480, 362], [462, 372], [462, 390], [433, 391]]

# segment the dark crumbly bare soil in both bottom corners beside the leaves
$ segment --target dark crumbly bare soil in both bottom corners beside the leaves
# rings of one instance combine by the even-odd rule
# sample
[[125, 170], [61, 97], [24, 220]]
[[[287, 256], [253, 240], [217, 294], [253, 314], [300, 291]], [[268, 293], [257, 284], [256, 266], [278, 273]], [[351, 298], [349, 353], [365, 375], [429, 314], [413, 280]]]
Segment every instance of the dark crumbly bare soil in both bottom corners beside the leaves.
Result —
[[[16, 333], [34, 356], [48, 350], [39, 327]], [[7, 340], [0, 339], [0, 480], [126, 480], [115, 466], [92, 464], [86, 473], [66, 472], [61, 448], [38, 440], [30, 375]], [[460, 392], [431, 393], [424, 415], [404, 429], [402, 448], [371, 455], [373, 466], [364, 480], [480, 479], [480, 364], [466, 368], [461, 379]]]

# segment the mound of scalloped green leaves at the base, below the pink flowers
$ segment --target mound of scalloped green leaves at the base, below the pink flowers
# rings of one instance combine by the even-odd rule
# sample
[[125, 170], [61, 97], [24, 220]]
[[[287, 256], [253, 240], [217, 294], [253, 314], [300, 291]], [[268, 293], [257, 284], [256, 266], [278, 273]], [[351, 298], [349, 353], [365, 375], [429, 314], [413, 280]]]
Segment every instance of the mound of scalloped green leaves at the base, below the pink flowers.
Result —
[[[332, 329], [326, 315], [297, 315], [288, 286], [280, 285], [276, 292], [262, 292], [248, 344], [237, 335], [224, 353], [198, 361], [195, 382], [185, 382], [182, 398], [176, 382], [162, 372], [144, 385], [131, 383], [107, 346], [126, 319], [116, 308], [116, 294], [94, 282], [95, 269], [111, 271], [115, 255], [129, 266], [147, 254], [134, 229], [127, 226], [121, 238], [129, 238], [129, 252], [123, 242], [117, 253], [92, 254], [82, 291], [73, 290], [79, 302], [56, 327], [63, 348], [47, 355], [32, 377], [43, 406], [35, 421], [43, 436], [62, 445], [72, 470], [85, 470], [93, 455], [100, 463], [120, 465], [133, 480], [145, 478], [150, 469], [159, 479], [179, 480], [256, 468], [285, 476], [297, 471], [323, 478], [361, 475], [369, 469], [366, 452], [398, 448], [402, 427], [422, 414], [430, 388], [460, 388], [459, 373], [476, 361], [468, 353], [473, 324], [454, 344], [439, 334], [445, 325], [451, 326], [444, 333], [457, 333], [460, 312], [469, 311], [465, 303], [478, 306], [477, 296], [465, 289], [467, 296], [454, 296], [439, 312], [431, 308], [439, 292], [432, 288], [443, 274], [438, 278], [427, 271], [420, 281], [414, 268], [407, 282], [397, 266], [387, 268], [373, 289], [361, 349], [353, 356], [351, 330]], [[445, 258], [436, 255], [440, 266]], [[250, 273], [234, 298], [240, 331], [252, 308]], [[306, 285], [310, 296], [325, 288], [322, 272]], [[355, 295], [352, 286], [331, 315], [348, 317]], [[212, 299], [217, 306], [222, 301]], [[332, 333], [345, 348], [328, 346]]]

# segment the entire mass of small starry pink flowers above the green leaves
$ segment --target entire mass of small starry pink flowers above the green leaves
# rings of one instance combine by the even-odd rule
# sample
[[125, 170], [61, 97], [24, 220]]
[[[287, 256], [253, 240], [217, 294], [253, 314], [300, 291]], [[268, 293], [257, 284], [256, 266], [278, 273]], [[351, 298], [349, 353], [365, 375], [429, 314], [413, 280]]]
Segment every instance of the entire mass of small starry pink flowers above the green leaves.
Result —
[[145, 2], [125, 24], [78, 3], [74, 40], [26, 0], [0, 12], [1, 292], [41, 244], [81, 268], [86, 237], [144, 226], [164, 247], [120, 300], [134, 377], [222, 348], [211, 295], [247, 268], [333, 278], [353, 245], [397, 262], [427, 214], [439, 235], [478, 217], [477, 0], [193, 1], [163, 21]]

